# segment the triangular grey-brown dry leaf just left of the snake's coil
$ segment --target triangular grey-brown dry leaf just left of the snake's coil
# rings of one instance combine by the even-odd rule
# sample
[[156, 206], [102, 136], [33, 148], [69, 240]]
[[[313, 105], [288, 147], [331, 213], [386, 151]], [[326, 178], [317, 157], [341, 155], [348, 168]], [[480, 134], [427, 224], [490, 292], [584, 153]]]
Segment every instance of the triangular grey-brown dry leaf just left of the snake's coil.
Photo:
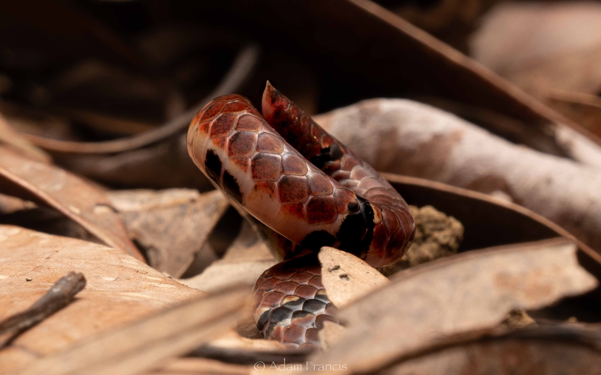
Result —
[[228, 208], [220, 191], [123, 190], [107, 194], [153, 268], [180, 277]]

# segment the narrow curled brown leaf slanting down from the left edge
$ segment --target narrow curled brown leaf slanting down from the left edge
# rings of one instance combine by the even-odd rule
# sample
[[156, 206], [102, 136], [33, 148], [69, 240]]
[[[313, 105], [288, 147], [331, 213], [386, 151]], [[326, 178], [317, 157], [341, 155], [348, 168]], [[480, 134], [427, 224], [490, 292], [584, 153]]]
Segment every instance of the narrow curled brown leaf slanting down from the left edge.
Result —
[[2, 191], [57, 209], [105, 244], [142, 260], [103, 191], [66, 170], [0, 147]]

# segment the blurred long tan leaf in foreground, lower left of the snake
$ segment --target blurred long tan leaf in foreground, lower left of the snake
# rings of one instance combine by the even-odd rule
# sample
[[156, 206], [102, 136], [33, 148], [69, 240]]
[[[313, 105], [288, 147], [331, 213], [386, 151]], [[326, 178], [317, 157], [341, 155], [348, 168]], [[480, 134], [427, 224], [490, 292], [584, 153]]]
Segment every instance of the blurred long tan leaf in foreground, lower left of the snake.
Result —
[[194, 298], [33, 362], [21, 375], [133, 375], [183, 355], [234, 325], [245, 288]]

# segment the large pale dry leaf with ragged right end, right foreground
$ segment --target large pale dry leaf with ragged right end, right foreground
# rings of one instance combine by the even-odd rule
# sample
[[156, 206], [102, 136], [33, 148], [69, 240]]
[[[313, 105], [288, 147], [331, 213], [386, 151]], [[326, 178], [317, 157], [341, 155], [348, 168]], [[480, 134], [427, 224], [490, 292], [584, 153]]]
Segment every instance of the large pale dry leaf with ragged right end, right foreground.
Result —
[[349, 330], [312, 360], [374, 371], [442, 337], [492, 328], [516, 308], [541, 308], [597, 284], [563, 238], [438, 259], [343, 308], [338, 317]]

